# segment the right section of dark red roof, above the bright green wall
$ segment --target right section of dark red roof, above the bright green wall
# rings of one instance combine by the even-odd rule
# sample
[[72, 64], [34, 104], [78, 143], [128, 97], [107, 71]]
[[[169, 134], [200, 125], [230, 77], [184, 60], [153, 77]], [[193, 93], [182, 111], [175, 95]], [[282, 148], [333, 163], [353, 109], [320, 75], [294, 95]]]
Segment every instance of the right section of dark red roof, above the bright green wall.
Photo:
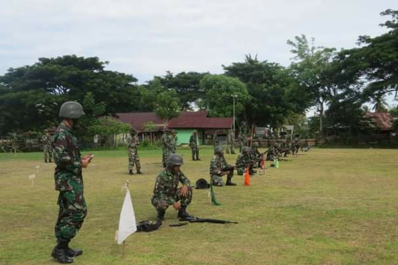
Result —
[[229, 129], [232, 118], [208, 118], [207, 111], [183, 111], [169, 122], [169, 128]]

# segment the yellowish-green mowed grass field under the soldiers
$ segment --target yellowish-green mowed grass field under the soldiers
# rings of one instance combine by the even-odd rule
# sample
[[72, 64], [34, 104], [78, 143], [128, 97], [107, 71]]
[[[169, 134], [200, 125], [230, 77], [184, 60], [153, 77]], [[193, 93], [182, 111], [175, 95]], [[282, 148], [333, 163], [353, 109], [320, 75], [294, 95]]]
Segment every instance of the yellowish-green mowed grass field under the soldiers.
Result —
[[[257, 173], [249, 187], [235, 175], [238, 186], [215, 189], [220, 206], [210, 205], [209, 190], [194, 190], [189, 213], [239, 224], [169, 227], [178, 222], [171, 207], [158, 231], [128, 238], [125, 259], [115, 243], [121, 188], [129, 179], [137, 220], [155, 220], [161, 150], [139, 151], [144, 175], [133, 176], [125, 150], [93, 153], [83, 173], [88, 216], [71, 244], [84, 251], [77, 264], [398, 264], [398, 150], [313, 148]], [[209, 179], [211, 147], [201, 149], [200, 162], [188, 148], [178, 153], [192, 185]], [[236, 155], [226, 158], [234, 164]], [[53, 173], [41, 153], [0, 154], [1, 264], [54, 264]]]

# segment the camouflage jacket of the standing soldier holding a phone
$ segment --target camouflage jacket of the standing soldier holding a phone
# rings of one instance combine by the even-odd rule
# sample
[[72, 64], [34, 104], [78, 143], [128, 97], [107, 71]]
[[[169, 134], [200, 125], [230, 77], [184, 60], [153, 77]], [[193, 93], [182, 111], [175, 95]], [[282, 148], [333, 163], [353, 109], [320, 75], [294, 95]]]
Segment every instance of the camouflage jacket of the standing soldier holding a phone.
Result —
[[79, 145], [72, 129], [64, 122], [60, 123], [53, 135], [53, 155], [57, 164], [54, 174], [55, 189], [70, 191], [76, 183], [83, 185]]

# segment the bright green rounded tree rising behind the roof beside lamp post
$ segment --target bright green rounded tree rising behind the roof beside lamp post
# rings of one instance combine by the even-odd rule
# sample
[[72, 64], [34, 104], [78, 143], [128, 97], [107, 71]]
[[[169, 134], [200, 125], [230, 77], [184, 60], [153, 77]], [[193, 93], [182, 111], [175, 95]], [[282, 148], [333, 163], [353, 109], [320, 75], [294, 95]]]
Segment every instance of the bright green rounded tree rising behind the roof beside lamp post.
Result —
[[233, 98], [235, 99], [235, 115], [242, 113], [244, 104], [250, 99], [248, 90], [238, 78], [224, 75], [207, 74], [200, 87], [205, 92], [205, 105], [211, 117], [232, 117]]

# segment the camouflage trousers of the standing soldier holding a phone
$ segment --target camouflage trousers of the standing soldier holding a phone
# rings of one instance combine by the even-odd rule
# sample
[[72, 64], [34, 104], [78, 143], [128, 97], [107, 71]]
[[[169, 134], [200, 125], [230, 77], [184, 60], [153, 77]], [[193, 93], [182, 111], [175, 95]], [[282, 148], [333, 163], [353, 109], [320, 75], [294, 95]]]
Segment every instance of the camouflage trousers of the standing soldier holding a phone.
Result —
[[71, 182], [71, 184], [72, 190], [61, 191], [58, 196], [59, 213], [57, 224], [55, 224], [57, 240], [74, 238], [87, 215], [83, 186], [76, 182]]

